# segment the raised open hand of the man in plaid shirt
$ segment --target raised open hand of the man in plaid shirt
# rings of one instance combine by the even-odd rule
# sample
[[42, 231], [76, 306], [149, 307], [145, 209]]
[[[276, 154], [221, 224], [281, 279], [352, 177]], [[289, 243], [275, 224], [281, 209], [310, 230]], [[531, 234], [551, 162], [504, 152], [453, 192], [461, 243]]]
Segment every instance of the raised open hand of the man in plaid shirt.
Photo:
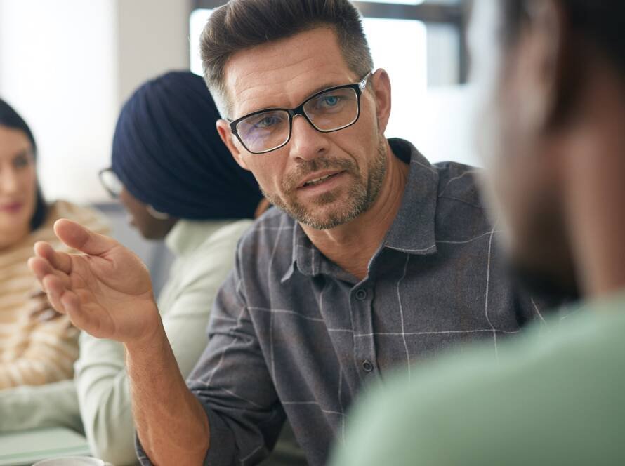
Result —
[[160, 316], [143, 262], [114, 239], [70, 220], [58, 220], [54, 231], [84, 254], [35, 244], [28, 264], [51, 305], [95, 337], [125, 343], [150, 338], [159, 329]]

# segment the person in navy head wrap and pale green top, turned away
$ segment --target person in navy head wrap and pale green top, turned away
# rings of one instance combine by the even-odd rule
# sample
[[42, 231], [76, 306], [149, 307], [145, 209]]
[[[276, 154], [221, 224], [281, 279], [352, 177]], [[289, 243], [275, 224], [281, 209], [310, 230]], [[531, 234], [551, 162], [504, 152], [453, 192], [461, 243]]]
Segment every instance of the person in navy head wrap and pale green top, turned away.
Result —
[[[254, 176], [221, 142], [217, 119], [201, 77], [169, 72], [147, 81], [121, 110], [112, 166], [100, 172], [131, 225], [147, 239], [164, 239], [176, 258], [158, 305], [183, 377], [206, 347], [213, 300], [235, 264], [239, 237], [268, 207]], [[124, 346], [82, 333], [80, 350], [76, 386], [92, 453], [116, 465], [136, 462]], [[293, 455], [287, 444], [277, 460], [296, 464], [296, 444]]]

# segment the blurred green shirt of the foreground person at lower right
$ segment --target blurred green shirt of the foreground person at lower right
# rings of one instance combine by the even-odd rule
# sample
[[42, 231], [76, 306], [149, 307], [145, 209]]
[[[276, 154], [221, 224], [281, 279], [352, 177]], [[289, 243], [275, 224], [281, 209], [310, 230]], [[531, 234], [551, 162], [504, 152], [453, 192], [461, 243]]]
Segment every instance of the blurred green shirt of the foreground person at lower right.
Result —
[[332, 464], [625, 464], [625, 293], [568, 315], [371, 392]]

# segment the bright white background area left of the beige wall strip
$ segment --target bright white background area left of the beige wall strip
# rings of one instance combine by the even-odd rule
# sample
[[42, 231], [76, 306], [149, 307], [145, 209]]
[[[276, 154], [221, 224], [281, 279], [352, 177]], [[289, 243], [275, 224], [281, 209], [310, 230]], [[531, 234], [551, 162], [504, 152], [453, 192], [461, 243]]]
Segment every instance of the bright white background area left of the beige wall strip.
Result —
[[101, 197], [94, 169], [107, 160], [117, 113], [114, 3], [0, 5], [0, 95], [34, 132], [46, 196]]

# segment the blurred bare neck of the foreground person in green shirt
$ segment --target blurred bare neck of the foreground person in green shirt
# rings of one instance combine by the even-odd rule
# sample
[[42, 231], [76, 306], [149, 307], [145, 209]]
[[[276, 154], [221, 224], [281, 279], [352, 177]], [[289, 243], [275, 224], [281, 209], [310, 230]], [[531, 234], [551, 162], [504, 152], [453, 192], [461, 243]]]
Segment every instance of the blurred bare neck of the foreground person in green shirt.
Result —
[[565, 147], [565, 218], [587, 298], [625, 289], [625, 92], [619, 83], [600, 84]]

